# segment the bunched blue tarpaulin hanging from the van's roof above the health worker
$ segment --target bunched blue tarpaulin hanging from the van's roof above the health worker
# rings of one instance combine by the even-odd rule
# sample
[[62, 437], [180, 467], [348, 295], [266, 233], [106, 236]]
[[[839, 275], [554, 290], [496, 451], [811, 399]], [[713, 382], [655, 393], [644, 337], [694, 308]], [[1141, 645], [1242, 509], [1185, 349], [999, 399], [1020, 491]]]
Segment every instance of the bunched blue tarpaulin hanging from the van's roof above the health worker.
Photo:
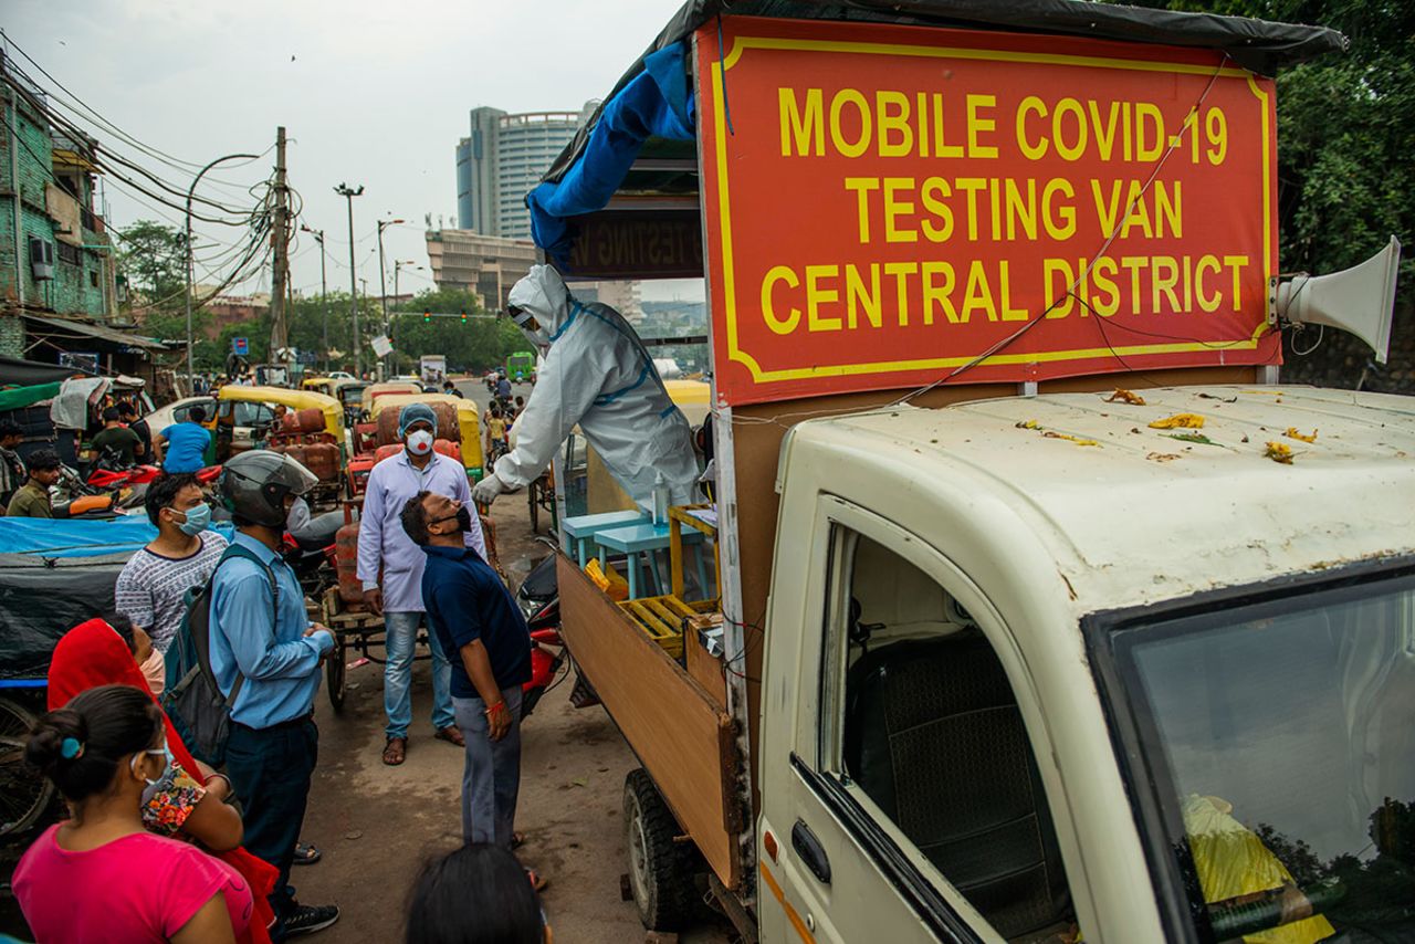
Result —
[[526, 194], [531, 234], [558, 262], [570, 251], [567, 217], [603, 209], [624, 183], [644, 142], [693, 140], [696, 115], [686, 55], [688, 44], [675, 42], [645, 58], [644, 71], [600, 109], [576, 164], [559, 181]]

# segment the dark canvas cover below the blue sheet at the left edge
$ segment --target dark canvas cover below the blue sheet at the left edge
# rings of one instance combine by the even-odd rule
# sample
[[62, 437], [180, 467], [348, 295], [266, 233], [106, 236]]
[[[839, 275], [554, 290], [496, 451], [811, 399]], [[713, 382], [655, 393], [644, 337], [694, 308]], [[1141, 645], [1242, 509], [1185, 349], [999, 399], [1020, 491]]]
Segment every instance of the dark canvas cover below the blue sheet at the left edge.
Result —
[[0, 679], [44, 678], [61, 635], [112, 613], [113, 587], [130, 556], [0, 555]]

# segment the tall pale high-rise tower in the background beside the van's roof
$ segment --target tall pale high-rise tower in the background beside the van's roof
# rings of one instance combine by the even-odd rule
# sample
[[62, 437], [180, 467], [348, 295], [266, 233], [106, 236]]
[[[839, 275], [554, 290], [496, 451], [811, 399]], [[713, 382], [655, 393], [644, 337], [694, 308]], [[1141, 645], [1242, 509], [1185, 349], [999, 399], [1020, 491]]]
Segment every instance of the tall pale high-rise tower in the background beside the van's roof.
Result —
[[488, 236], [531, 238], [525, 195], [589, 119], [579, 112], [471, 109], [471, 134], [457, 143], [457, 228]]

